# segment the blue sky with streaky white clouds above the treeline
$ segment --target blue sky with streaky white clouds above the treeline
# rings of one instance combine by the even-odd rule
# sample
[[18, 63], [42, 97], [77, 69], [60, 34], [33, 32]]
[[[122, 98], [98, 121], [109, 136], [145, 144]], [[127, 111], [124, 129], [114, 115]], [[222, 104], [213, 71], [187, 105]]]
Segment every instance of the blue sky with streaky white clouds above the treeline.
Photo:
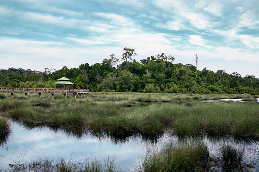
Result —
[[1, 0], [0, 69], [78, 68], [134, 49], [136, 61], [259, 77], [259, 1]]

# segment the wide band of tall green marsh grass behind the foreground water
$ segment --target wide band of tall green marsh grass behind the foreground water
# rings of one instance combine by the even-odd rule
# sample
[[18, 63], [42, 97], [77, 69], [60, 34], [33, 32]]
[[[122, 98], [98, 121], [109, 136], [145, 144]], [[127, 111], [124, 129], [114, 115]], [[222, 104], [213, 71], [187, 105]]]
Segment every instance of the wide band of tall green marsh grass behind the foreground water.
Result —
[[134, 134], [158, 137], [170, 131], [176, 135], [259, 137], [259, 106], [254, 102], [182, 100], [141, 104], [133, 99], [0, 99], [0, 111], [32, 127], [56, 127], [78, 136], [89, 131], [115, 138]]

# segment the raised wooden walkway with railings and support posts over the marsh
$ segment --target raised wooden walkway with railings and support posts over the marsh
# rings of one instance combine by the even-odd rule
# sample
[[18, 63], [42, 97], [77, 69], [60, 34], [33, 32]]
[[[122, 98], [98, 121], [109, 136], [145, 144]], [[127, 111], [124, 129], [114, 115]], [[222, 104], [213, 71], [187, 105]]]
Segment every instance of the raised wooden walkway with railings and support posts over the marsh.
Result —
[[3, 93], [11, 93], [11, 97], [14, 98], [14, 93], [25, 93], [26, 99], [28, 99], [29, 93], [38, 93], [39, 98], [41, 98], [41, 94], [43, 93], [51, 93], [52, 98], [54, 98], [55, 94], [64, 94], [64, 98], [68, 93], [74, 94], [75, 98], [85, 97], [89, 93], [89, 89], [70, 89], [70, 88], [4, 88], [0, 87], [0, 92]]

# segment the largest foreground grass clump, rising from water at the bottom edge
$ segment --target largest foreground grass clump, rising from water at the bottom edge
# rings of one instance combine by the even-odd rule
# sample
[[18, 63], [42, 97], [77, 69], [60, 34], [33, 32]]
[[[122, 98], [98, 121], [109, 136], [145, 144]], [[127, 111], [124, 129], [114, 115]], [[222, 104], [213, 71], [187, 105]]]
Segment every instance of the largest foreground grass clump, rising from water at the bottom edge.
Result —
[[152, 152], [137, 165], [137, 171], [206, 171], [210, 166], [207, 146], [199, 141], [170, 144], [160, 152]]

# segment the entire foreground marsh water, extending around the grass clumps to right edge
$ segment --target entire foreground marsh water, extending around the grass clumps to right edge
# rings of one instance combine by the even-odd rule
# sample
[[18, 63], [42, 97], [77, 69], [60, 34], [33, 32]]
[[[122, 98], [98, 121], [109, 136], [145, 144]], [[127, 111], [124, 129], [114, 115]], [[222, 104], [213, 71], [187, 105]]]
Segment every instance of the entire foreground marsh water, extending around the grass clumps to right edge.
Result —
[[[142, 139], [141, 136], [129, 137], [117, 142], [110, 138], [97, 138], [90, 134], [80, 138], [68, 136], [63, 131], [53, 131], [47, 127], [26, 129], [23, 125], [11, 122], [12, 134], [5, 145], [0, 147], [0, 170], [8, 169], [9, 164], [31, 162], [42, 157], [54, 159], [84, 161], [86, 158], [98, 159], [101, 162], [107, 158], [115, 158], [122, 169], [133, 170], [149, 151], [163, 148], [166, 144], [177, 145], [180, 141], [189, 142], [193, 138], [178, 138], [163, 134], [155, 141]], [[225, 141], [235, 147], [245, 149], [246, 159], [255, 164], [254, 171], [259, 170], [259, 143], [254, 140], [236, 140], [233, 137], [200, 136], [208, 145], [211, 156], [217, 156], [220, 145]]]

